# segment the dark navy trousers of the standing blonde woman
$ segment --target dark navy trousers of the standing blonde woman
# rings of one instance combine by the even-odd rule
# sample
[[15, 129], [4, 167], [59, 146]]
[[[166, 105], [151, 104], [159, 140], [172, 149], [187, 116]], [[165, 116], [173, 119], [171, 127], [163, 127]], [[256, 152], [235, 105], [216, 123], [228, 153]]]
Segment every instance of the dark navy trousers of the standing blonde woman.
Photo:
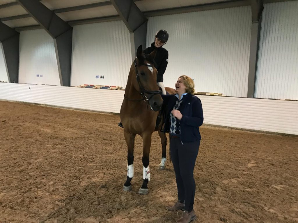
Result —
[[183, 142], [180, 138], [170, 136], [170, 155], [173, 162], [178, 200], [185, 201], [185, 210], [192, 211], [195, 200], [195, 179], [193, 169], [198, 156], [201, 141]]

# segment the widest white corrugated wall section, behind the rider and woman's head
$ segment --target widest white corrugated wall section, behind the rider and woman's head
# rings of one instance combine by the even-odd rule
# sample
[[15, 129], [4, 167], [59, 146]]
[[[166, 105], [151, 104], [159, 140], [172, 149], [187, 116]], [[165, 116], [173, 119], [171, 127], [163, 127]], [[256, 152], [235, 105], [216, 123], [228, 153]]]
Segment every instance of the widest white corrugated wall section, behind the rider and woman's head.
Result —
[[149, 18], [147, 46], [159, 29], [170, 36], [164, 85], [185, 74], [196, 91], [246, 97], [251, 21], [249, 6]]

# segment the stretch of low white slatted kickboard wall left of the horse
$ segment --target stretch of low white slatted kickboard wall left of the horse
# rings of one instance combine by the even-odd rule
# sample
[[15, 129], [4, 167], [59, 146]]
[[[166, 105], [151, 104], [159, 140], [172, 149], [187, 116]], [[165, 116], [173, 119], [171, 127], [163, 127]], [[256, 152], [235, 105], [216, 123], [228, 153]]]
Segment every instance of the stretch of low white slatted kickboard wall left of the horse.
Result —
[[0, 83], [0, 100], [101, 112], [120, 113], [123, 97], [124, 91], [120, 90]]

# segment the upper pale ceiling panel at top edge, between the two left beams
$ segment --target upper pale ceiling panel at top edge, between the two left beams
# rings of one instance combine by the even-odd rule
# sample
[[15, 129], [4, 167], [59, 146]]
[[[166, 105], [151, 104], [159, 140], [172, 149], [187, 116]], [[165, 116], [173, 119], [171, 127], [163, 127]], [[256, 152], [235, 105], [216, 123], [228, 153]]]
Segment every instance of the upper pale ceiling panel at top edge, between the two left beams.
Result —
[[103, 1], [107, 0], [42, 0], [41, 3], [48, 7], [50, 10], [54, 10], [79, 5], [88, 5]]

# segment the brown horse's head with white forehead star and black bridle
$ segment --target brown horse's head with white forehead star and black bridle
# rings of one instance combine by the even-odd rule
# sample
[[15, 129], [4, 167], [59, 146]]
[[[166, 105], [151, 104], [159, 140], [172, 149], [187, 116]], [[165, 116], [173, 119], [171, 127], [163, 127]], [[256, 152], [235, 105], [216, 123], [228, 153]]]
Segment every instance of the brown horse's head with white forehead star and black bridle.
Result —
[[155, 68], [154, 57], [156, 50], [151, 54], [143, 54], [142, 45], [136, 52], [136, 60], [134, 61], [134, 73], [136, 79], [133, 80], [135, 89], [148, 101], [153, 111], [159, 111], [162, 107], [161, 91], [156, 83], [157, 70]]

